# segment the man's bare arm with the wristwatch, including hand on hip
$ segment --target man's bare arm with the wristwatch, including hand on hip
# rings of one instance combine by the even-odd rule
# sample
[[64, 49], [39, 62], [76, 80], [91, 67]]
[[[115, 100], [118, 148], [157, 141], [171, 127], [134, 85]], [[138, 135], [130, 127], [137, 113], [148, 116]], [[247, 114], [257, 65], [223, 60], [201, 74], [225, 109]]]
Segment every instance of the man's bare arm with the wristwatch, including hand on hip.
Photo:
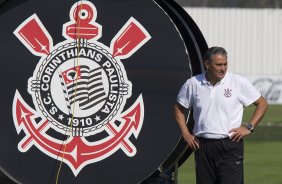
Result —
[[[249, 123], [251, 123], [253, 125], [253, 127], [256, 127], [259, 122], [261, 121], [261, 119], [263, 118], [267, 108], [268, 108], [268, 104], [267, 101], [264, 99], [263, 96], [261, 96], [258, 100], [256, 100], [253, 103], [256, 108], [253, 112], [253, 116], [251, 118], [251, 120], [249, 121]], [[232, 133], [232, 136], [230, 137], [233, 141], [239, 141], [240, 139], [242, 139], [244, 136], [249, 135], [251, 133], [250, 130], [248, 130], [245, 126], [240, 126], [239, 128], [234, 128], [232, 130], [229, 131], [229, 133]]]

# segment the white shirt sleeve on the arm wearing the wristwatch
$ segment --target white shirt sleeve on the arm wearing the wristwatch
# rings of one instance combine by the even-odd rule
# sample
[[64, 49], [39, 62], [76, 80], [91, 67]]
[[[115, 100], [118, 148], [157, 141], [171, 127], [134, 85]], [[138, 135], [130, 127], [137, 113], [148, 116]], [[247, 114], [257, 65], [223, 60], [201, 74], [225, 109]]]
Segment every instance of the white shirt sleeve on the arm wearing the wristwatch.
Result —
[[261, 93], [252, 85], [250, 81], [241, 77], [241, 103], [244, 106], [249, 106], [254, 103], [259, 97]]

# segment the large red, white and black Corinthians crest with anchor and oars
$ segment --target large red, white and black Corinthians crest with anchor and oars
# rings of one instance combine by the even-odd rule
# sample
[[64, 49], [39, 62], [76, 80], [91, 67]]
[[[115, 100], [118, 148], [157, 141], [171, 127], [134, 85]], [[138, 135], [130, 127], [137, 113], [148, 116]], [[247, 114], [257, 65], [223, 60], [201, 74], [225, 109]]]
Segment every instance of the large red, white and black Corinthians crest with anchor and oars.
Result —
[[[95, 22], [97, 11], [91, 2], [74, 4], [69, 15], [70, 22], [63, 25], [66, 40], [55, 46], [36, 14], [14, 31], [41, 58], [27, 81], [35, 109], [16, 91], [13, 117], [17, 132], [26, 135], [18, 144], [21, 152], [35, 146], [66, 163], [77, 176], [86, 165], [119, 149], [127, 156], [136, 154], [129, 137], [137, 138], [142, 128], [143, 98], [140, 94], [124, 109], [133, 85], [121, 60], [151, 37], [131, 17], [107, 47], [97, 41], [102, 26]], [[64, 138], [54, 137], [50, 130]]]

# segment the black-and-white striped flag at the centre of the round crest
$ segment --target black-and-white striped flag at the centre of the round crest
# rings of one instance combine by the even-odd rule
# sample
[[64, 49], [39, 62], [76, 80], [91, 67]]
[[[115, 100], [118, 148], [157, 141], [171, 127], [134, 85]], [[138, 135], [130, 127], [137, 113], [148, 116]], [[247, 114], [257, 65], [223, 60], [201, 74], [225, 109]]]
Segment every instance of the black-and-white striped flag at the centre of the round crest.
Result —
[[80, 109], [87, 110], [106, 100], [101, 67], [90, 69], [80, 65], [62, 71], [59, 76], [69, 110], [75, 102]]

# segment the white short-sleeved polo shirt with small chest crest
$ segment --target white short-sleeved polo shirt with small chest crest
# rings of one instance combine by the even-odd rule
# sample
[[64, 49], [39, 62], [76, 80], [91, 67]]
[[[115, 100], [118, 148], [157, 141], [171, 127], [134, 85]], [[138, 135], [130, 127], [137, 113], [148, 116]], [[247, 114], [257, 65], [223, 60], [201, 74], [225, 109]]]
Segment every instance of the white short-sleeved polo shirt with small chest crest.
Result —
[[193, 107], [193, 134], [219, 139], [242, 123], [243, 107], [255, 102], [261, 94], [245, 78], [226, 73], [215, 86], [200, 74], [188, 79], [177, 96], [185, 108]]

